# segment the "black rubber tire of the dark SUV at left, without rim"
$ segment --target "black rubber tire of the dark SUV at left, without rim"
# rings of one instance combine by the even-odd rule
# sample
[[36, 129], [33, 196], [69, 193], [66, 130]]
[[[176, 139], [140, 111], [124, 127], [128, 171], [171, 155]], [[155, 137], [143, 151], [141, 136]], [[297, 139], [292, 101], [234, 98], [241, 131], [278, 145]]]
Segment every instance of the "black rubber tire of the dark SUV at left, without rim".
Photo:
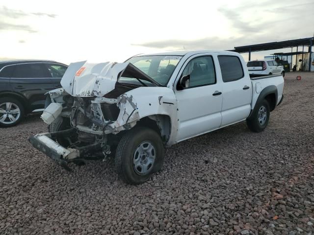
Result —
[[[5, 119], [3, 119], [3, 121], [1, 121], [1, 118], [4, 115], [10, 115], [10, 114], [0, 113], [0, 127], [15, 126], [15, 125], [19, 124], [24, 119], [24, 116], [25, 116], [25, 109], [24, 109], [24, 106], [22, 105], [22, 103], [20, 101], [18, 101], [15, 98], [11, 98], [11, 97], [2, 97], [2, 98], [0, 98], [0, 108], [1, 108], [1, 111], [4, 110], [3, 109], [4, 107], [6, 107], [5, 106], [6, 103], [11, 103], [11, 105], [10, 105], [11, 106], [11, 111], [16, 110], [16, 108], [18, 108], [20, 111], [19, 111], [19, 115], [13, 114], [13, 113], [11, 114], [10, 117], [13, 116], [13, 118], [16, 118], [15, 121], [13, 121], [13, 122], [9, 118], [9, 116], [7, 116]], [[9, 121], [12, 122], [12, 123], [9, 123]]]

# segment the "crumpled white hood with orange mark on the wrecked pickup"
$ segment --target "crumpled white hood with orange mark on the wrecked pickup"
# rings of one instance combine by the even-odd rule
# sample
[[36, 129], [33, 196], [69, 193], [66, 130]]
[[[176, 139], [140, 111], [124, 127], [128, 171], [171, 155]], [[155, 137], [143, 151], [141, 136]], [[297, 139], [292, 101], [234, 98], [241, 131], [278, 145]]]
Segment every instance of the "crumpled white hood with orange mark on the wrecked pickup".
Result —
[[105, 62], [99, 64], [80, 61], [71, 63], [61, 79], [63, 89], [73, 96], [102, 97], [115, 84], [129, 63]]

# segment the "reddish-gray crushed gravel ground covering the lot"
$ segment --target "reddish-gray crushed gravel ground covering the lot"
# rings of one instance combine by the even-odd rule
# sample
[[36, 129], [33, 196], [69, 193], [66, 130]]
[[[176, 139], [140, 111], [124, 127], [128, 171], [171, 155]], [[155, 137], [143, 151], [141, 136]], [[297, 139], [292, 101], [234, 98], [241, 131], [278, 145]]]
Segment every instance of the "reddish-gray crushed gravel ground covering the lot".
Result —
[[0, 129], [0, 234], [314, 234], [314, 73], [285, 80], [264, 132], [241, 122], [174, 145], [139, 186], [112, 160], [54, 164], [27, 141], [47, 130], [39, 116]]

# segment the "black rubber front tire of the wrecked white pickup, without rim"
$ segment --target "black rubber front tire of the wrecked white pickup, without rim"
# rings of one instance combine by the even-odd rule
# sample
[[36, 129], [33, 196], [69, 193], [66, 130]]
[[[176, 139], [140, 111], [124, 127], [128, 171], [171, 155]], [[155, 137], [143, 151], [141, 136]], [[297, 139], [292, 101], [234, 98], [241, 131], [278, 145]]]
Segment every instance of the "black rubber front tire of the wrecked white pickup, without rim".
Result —
[[[150, 167], [147, 167], [148, 170], [145, 174], [139, 174], [137, 172], [139, 168], [136, 169], [133, 166], [133, 158], [136, 160], [136, 154], [138, 153], [135, 153], [135, 151], [142, 144], [145, 145], [148, 142], [154, 147], [154, 151], [151, 150], [151, 152], [155, 154], [155, 161]], [[137, 158], [141, 160], [141, 157], [138, 155]], [[115, 165], [118, 175], [124, 182], [131, 185], [138, 185], [147, 181], [154, 172], [161, 169], [163, 161], [163, 143], [157, 132], [150, 128], [134, 127], [122, 137], [117, 146]]]

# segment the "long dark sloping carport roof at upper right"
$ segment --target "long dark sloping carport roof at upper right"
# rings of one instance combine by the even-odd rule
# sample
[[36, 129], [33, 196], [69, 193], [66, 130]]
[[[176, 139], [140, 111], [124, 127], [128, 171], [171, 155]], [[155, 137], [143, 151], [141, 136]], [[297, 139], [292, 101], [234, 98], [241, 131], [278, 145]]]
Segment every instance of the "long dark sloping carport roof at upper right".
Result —
[[272, 42], [272, 43], [262, 43], [255, 45], [248, 45], [242, 47], [235, 47], [235, 52], [238, 53], [249, 53], [253, 51], [262, 51], [262, 50], [274, 50], [274, 49], [282, 49], [288, 47], [297, 47], [297, 46], [312, 46], [314, 38], [302, 38], [302, 39], [294, 39], [282, 42]]

